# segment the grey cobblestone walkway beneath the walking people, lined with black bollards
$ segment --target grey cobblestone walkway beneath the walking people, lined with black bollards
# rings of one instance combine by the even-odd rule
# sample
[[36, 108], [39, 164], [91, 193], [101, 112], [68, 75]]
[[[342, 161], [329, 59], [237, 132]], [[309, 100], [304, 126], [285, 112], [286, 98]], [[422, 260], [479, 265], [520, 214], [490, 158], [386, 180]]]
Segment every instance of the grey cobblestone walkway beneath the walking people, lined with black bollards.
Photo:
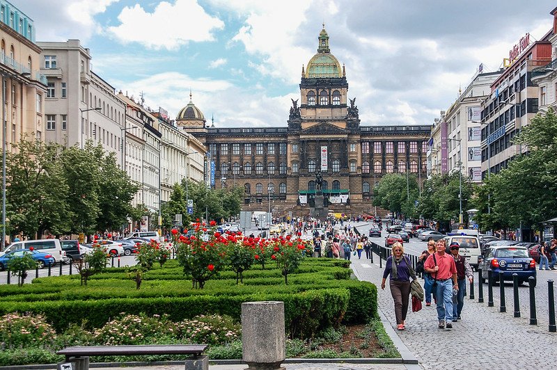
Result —
[[[352, 259], [352, 268], [357, 278], [379, 286], [383, 269], [379, 268], [377, 255], [374, 258], [375, 264], [368, 259]], [[515, 319], [512, 284], [505, 285], [507, 312], [500, 313], [499, 285], [494, 287], [495, 307], [487, 307], [487, 284], [484, 285], [485, 303], [478, 303], [476, 282], [476, 300], [466, 298], [462, 321], [453, 323], [453, 330], [438, 329], [434, 305], [424, 304], [420, 312], [411, 312], [410, 307], [407, 328], [397, 334], [425, 369], [555, 369], [554, 358], [538, 355], [540, 343], [550, 347], [553, 343], [557, 348], [557, 334], [550, 333], [547, 327], [545, 280], [551, 277], [557, 278], [554, 271], [540, 271], [538, 281], [543, 284], [536, 293], [537, 300], [544, 300], [545, 307], [538, 307], [538, 325], [529, 325], [527, 286], [519, 289], [522, 317]], [[396, 326], [389, 284], [384, 291], [378, 289], [378, 305], [391, 325]]]

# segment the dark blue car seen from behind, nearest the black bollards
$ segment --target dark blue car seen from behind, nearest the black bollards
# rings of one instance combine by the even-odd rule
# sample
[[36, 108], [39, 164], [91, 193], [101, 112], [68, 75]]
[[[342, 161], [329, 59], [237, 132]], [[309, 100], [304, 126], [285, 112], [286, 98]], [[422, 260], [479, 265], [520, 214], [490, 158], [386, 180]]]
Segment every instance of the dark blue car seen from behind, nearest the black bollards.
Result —
[[499, 272], [503, 273], [503, 282], [512, 281], [512, 274], [518, 275], [518, 282], [522, 284], [529, 282], [534, 277], [533, 286], [536, 283], [535, 261], [528, 255], [528, 249], [521, 246], [496, 246], [487, 250], [487, 255], [480, 262], [482, 268], [482, 282], [487, 280], [487, 272], [492, 271], [494, 282], [499, 281]]

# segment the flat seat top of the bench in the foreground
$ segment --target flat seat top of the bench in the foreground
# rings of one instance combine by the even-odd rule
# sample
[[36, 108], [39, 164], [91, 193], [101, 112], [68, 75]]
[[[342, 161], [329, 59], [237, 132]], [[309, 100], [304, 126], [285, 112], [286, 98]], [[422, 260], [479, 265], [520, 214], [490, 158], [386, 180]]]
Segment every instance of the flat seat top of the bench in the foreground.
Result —
[[201, 355], [207, 344], [148, 344], [139, 346], [75, 346], [64, 348], [58, 355]]

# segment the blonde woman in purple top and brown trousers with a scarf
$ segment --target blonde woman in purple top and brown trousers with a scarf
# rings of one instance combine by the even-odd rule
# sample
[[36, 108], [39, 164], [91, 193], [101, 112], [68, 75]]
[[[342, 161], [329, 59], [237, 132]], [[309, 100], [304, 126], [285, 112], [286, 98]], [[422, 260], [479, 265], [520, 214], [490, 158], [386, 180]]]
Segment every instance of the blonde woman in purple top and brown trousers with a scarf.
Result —
[[405, 257], [405, 249], [402, 243], [393, 244], [393, 255], [387, 258], [381, 289], [385, 289], [385, 280], [391, 275], [389, 288], [395, 303], [396, 328], [405, 330], [406, 314], [408, 312], [408, 301], [410, 298], [410, 278], [416, 280], [416, 273], [408, 259]]

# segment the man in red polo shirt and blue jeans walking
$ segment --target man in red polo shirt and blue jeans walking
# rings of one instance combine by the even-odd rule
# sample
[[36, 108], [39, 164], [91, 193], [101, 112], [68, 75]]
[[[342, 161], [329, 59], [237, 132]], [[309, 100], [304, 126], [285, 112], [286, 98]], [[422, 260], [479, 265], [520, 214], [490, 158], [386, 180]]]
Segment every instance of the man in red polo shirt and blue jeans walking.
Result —
[[458, 291], [457, 268], [453, 256], [445, 253], [445, 239], [439, 239], [435, 248], [437, 252], [427, 257], [423, 269], [437, 282], [435, 289], [439, 329], [450, 330], [453, 328], [453, 289]]

